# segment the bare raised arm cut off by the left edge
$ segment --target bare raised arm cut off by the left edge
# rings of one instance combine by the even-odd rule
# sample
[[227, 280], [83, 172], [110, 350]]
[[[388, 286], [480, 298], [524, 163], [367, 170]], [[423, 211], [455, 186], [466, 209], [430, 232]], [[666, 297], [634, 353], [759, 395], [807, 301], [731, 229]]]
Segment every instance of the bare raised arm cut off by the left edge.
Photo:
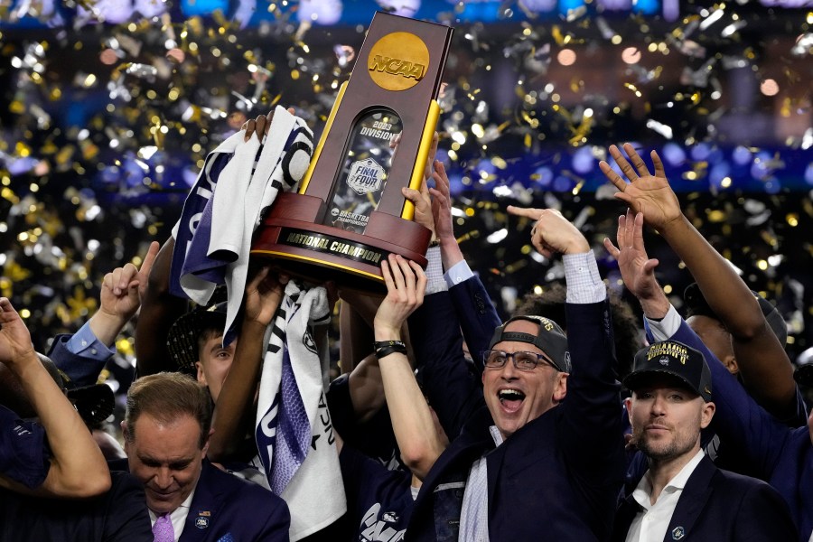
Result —
[[33, 491], [0, 476], [0, 485], [51, 497], [90, 497], [110, 489], [110, 472], [90, 431], [68, 397], [42, 367], [31, 335], [11, 302], [0, 298], [0, 361], [14, 372], [39, 416], [51, 446], [51, 467]]

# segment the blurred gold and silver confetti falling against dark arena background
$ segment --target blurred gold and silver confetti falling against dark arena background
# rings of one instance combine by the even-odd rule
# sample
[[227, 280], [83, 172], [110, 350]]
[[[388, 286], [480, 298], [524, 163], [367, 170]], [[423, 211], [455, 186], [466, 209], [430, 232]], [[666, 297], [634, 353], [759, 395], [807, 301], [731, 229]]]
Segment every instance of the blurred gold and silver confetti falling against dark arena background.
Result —
[[[598, 162], [632, 141], [780, 303], [790, 348], [813, 342], [813, 8], [674, 0], [0, 5], [0, 293], [35, 341], [75, 330], [101, 276], [168, 237], [206, 153], [248, 118], [281, 104], [318, 133], [376, 9], [456, 28], [438, 158], [495, 300], [561, 278], [508, 203], [578, 219], [612, 273], [601, 239], [621, 208]], [[690, 277], [651, 243], [677, 301]]]

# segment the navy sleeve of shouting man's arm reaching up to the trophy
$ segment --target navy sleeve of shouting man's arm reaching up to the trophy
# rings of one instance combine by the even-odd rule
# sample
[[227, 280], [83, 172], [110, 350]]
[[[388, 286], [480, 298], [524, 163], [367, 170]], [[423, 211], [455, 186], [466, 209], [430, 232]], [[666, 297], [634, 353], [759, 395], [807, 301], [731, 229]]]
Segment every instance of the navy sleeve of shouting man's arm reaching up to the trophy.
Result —
[[485, 402], [480, 380], [463, 357], [460, 322], [448, 292], [425, 297], [409, 317], [409, 336], [429, 404], [453, 440]]

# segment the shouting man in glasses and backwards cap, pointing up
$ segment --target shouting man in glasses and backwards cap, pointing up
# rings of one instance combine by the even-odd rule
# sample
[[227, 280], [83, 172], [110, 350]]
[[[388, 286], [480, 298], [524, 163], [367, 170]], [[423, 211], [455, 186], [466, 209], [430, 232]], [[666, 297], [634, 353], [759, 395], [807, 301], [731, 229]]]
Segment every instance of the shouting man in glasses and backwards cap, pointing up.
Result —
[[[528, 215], [535, 247], [565, 255], [567, 324], [579, 340], [570, 343], [547, 319], [511, 319], [489, 333], [485, 347], [497, 351], [477, 375], [463, 359], [460, 329], [464, 320], [492, 320], [485, 298], [478, 303], [475, 292], [473, 311], [457, 313], [452, 290], [466, 279], [425, 296], [409, 332], [452, 443], [425, 476], [407, 539], [584, 542], [612, 532], [624, 460], [606, 289], [572, 224], [554, 210]], [[443, 252], [453, 238], [439, 238]], [[488, 337], [478, 335], [469, 346], [486, 350]]]

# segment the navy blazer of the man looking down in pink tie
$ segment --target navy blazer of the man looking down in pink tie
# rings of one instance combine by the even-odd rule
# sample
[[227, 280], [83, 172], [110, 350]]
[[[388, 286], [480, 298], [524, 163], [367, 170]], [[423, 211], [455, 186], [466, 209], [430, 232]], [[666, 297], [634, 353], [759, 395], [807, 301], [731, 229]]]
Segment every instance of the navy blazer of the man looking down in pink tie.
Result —
[[[111, 470], [129, 470], [126, 460]], [[204, 459], [179, 542], [283, 542], [291, 514], [285, 500]]]

